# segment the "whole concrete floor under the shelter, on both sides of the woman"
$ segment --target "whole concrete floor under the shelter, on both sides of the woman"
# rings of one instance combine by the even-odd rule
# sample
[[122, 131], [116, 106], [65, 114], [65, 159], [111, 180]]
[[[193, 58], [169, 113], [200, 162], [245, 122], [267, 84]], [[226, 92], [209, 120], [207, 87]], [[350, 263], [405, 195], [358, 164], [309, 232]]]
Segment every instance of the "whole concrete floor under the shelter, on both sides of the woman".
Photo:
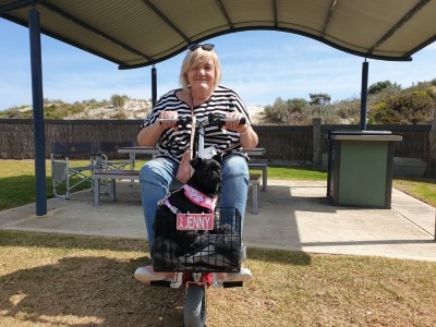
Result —
[[[118, 201], [94, 205], [90, 191], [48, 201], [48, 215], [35, 205], [0, 213], [0, 229], [52, 233], [146, 238], [137, 183], [118, 183]], [[392, 190], [392, 208], [331, 206], [326, 182], [268, 181], [259, 193], [259, 214], [245, 214], [243, 239], [250, 246], [307, 253], [376, 255], [436, 262], [435, 208]]]

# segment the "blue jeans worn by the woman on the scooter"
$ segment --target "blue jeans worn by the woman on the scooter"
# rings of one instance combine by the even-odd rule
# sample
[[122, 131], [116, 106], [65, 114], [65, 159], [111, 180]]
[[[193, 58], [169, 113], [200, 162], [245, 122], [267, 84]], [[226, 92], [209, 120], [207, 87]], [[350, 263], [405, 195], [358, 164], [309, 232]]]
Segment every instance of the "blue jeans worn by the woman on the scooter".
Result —
[[[221, 194], [220, 206], [237, 208], [241, 213], [241, 232], [244, 221], [246, 197], [249, 193], [249, 166], [246, 159], [240, 155], [230, 155], [221, 162]], [[141, 198], [143, 203], [145, 226], [147, 228], [148, 247], [154, 242], [153, 225], [157, 210], [157, 203], [162, 199], [175, 180], [179, 164], [159, 157], [147, 161], [140, 173]]]

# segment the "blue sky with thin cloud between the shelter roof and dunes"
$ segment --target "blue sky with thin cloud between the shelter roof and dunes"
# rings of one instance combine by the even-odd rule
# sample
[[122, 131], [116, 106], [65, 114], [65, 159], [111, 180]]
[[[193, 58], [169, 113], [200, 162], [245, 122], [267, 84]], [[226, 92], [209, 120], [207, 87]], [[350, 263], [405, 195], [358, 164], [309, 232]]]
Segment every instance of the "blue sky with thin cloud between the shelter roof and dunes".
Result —
[[[284, 32], [240, 32], [207, 40], [221, 61], [221, 84], [234, 89], [246, 106], [282, 99], [310, 99], [324, 93], [331, 101], [359, 98], [364, 58], [311, 38]], [[114, 94], [152, 98], [152, 68], [119, 70], [116, 63], [41, 37], [44, 98], [66, 102], [109, 100]], [[180, 87], [185, 53], [157, 63], [158, 97]], [[380, 81], [403, 88], [436, 78], [436, 43], [412, 61], [368, 59], [368, 85]], [[28, 29], [0, 17], [0, 110], [32, 105]]]

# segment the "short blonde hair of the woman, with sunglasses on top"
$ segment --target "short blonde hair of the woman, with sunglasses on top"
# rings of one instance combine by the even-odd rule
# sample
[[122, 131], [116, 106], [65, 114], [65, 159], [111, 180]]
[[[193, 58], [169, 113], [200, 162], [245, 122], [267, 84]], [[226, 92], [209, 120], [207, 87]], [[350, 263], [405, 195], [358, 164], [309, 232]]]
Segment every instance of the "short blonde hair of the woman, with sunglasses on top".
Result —
[[183, 59], [182, 69], [180, 70], [180, 84], [184, 90], [190, 92], [187, 72], [193, 66], [201, 66], [210, 59], [215, 68], [214, 89], [218, 87], [221, 81], [221, 65], [217, 52], [215, 52], [215, 49], [206, 51], [197, 48], [194, 51], [187, 50], [186, 57]]

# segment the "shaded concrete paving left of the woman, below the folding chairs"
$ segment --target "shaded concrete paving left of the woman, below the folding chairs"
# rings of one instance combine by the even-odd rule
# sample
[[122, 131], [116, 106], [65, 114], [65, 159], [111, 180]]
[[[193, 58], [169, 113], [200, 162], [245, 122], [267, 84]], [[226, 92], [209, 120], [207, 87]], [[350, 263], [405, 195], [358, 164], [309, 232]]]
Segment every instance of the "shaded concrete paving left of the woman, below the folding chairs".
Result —
[[117, 201], [101, 196], [94, 205], [94, 194], [81, 191], [70, 199], [51, 198], [46, 216], [35, 215], [35, 204], [0, 211], [0, 229], [38, 231], [114, 238], [146, 238], [138, 184], [117, 183]]

